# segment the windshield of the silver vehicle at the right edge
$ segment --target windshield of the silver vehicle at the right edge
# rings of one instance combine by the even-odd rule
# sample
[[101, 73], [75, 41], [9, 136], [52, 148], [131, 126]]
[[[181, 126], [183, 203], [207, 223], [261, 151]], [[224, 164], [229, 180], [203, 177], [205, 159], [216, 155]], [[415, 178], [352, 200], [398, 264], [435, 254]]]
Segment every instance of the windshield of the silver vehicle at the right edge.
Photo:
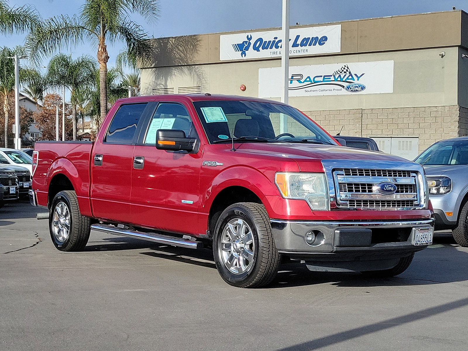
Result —
[[414, 161], [423, 166], [468, 165], [468, 140], [435, 143]]

